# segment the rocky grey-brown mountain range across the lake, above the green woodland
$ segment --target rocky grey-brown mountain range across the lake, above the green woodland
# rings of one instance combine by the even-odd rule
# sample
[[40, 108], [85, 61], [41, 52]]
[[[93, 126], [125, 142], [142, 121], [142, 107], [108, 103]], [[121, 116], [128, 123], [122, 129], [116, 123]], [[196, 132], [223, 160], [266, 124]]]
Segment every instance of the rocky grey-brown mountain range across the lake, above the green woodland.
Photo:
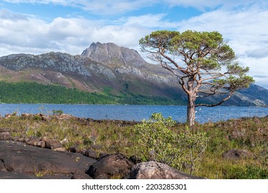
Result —
[[[187, 100], [171, 72], [161, 65], [147, 63], [136, 50], [115, 43], [92, 43], [81, 55], [75, 56], [49, 52], [0, 57], [0, 81], [62, 85], [126, 99], [131, 96], [133, 103], [142, 97], [176, 101], [173, 104], [178, 105], [186, 104]], [[252, 85], [249, 90], [238, 92], [226, 104], [267, 105], [267, 92]]]

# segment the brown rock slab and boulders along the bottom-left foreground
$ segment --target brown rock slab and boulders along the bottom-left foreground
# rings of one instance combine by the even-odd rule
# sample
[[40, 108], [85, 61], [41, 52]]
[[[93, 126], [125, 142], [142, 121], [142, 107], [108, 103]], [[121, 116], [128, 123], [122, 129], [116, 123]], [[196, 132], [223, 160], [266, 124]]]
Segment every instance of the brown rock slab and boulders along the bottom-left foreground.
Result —
[[93, 150], [82, 154], [38, 148], [13, 141], [6, 131], [0, 139], [0, 179], [201, 179], [154, 161], [136, 163], [135, 157], [122, 154], [96, 158]]

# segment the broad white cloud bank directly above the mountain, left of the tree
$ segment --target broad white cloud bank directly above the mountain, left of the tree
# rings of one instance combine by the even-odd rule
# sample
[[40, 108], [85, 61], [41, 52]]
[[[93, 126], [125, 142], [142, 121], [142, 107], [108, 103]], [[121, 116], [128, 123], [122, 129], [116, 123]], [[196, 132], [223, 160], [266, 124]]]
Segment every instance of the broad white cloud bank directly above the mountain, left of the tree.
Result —
[[41, 54], [48, 50], [80, 54], [96, 41], [135, 48], [139, 39], [150, 32], [142, 26], [107, 26], [105, 21], [81, 18], [57, 17], [47, 22], [6, 10], [0, 10], [0, 23], [1, 55], [18, 52]]

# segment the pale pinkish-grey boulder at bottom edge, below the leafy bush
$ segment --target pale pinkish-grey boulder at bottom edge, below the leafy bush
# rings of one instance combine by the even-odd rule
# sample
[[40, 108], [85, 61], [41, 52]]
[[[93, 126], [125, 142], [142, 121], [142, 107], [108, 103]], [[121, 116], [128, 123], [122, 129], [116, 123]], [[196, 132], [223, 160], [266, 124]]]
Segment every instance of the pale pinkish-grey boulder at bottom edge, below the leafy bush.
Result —
[[164, 163], [148, 161], [137, 163], [131, 169], [130, 179], [202, 179], [176, 170]]

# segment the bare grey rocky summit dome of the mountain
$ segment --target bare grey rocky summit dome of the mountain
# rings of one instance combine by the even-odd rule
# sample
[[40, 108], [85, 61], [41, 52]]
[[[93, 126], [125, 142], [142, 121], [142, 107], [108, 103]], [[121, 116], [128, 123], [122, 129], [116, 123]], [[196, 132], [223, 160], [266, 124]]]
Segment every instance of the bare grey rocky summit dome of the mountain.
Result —
[[92, 43], [82, 52], [82, 56], [102, 63], [122, 63], [134, 66], [146, 63], [136, 50], [120, 47], [115, 43]]

